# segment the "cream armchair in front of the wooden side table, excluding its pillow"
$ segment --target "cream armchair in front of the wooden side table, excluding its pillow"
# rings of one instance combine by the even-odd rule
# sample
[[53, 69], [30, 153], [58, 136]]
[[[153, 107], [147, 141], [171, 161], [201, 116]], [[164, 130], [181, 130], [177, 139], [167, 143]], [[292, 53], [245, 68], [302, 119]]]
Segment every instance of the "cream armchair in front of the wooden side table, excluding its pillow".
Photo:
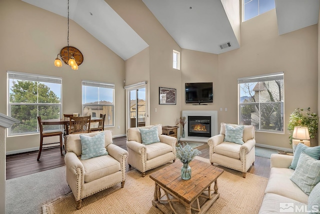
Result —
[[160, 166], [169, 161], [175, 160], [175, 144], [176, 138], [163, 135], [162, 126], [155, 125], [158, 130], [158, 137], [160, 142], [143, 145], [141, 133], [139, 128], [150, 129], [154, 127], [143, 126], [129, 128], [127, 130], [126, 147], [128, 150], [128, 164], [129, 167], [133, 166], [145, 176], [145, 171]]

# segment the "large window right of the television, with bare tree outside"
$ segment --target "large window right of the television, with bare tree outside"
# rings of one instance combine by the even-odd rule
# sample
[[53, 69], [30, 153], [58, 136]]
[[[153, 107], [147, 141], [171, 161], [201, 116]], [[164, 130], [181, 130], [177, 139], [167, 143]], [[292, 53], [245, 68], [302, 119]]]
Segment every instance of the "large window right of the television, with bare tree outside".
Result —
[[283, 133], [283, 72], [238, 79], [239, 122]]

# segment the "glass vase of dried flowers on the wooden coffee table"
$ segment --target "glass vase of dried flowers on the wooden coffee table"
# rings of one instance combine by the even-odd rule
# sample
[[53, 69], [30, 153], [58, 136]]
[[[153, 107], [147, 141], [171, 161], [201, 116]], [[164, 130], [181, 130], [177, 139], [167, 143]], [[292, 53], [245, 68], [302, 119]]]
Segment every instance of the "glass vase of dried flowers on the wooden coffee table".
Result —
[[178, 158], [182, 163], [183, 166], [181, 168], [181, 178], [183, 180], [188, 180], [191, 178], [191, 167], [189, 163], [191, 160], [201, 152], [198, 149], [193, 149], [187, 143], [178, 144], [175, 147], [176, 150], [176, 158]]

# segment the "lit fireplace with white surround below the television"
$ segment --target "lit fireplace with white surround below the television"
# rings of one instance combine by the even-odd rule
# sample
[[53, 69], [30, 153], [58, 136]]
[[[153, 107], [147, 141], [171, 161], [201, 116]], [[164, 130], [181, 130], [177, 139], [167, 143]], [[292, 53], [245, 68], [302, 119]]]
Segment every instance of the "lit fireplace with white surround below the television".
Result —
[[[197, 120], [203, 120], [204, 121], [200, 122], [201, 125], [204, 125], [206, 131], [208, 133], [206, 133], [206, 137], [204, 137], [202, 134], [202, 132], [205, 131], [189, 131], [189, 127], [192, 127], [191, 125], [196, 125], [196, 124], [189, 124], [189, 123], [193, 123], [195, 121], [188, 121], [188, 118], [192, 118], [195, 117], [195, 119]], [[181, 142], [207, 142], [209, 137], [217, 135], [218, 134], [218, 126], [217, 126], [217, 111], [212, 111], [212, 110], [187, 110], [187, 111], [182, 111], [182, 117], [186, 118], [186, 124], [184, 126], [184, 130], [185, 130], [185, 136], [184, 137], [180, 137], [180, 141]], [[206, 126], [207, 122], [205, 120], [210, 119], [210, 126]], [[200, 127], [197, 127], [198, 129], [201, 129]], [[201, 134], [201, 136], [199, 135], [199, 132]], [[196, 135], [195, 135], [196, 133]], [[179, 133], [181, 135], [181, 133]], [[190, 136], [191, 134], [191, 136]]]

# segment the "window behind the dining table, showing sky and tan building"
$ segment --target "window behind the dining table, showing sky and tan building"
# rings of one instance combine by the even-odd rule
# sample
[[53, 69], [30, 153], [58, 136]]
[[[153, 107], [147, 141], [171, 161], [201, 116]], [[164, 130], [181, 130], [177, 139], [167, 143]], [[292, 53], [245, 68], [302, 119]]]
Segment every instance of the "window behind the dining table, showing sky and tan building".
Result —
[[103, 114], [104, 126], [114, 126], [114, 84], [82, 80], [82, 115]]

